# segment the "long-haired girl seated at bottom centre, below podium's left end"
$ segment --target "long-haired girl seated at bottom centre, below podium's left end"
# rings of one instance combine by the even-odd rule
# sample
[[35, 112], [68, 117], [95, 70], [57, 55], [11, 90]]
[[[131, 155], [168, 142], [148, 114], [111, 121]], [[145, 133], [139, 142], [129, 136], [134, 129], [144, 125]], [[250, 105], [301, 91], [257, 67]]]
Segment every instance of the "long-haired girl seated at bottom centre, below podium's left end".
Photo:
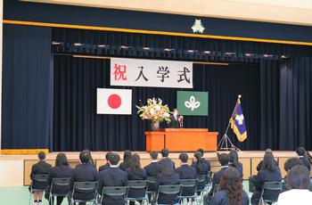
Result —
[[[180, 183], [180, 177], [173, 167], [172, 160], [162, 159], [161, 173], [156, 179], [156, 190], [159, 192], [160, 185], [175, 185]], [[157, 193], [156, 193], [157, 194]], [[176, 204], [177, 194], [160, 193], [158, 204]]]

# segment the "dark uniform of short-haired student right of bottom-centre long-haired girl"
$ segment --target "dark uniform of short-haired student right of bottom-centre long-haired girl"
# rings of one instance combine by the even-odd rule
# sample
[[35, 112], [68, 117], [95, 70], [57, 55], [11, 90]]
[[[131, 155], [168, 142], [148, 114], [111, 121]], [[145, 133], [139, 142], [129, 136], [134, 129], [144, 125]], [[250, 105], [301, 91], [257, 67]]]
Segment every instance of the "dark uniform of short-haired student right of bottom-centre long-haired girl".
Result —
[[[187, 163], [182, 164], [181, 167], [177, 168], [176, 172], [180, 176], [180, 179], [195, 179], [197, 176], [196, 169], [189, 166]], [[191, 196], [193, 193], [193, 188], [183, 188], [183, 196]]]

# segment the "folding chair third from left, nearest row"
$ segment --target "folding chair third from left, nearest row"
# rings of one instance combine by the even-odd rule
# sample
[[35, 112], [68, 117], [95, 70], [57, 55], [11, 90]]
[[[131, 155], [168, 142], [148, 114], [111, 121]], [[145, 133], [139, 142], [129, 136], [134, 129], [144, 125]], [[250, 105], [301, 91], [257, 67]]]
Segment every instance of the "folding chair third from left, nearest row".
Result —
[[[76, 203], [86, 203], [91, 202], [95, 205], [96, 202], [96, 187], [97, 182], [75, 182], [74, 187], [71, 193], [70, 205], [74, 205]], [[75, 199], [75, 193], [92, 193], [92, 199]]]

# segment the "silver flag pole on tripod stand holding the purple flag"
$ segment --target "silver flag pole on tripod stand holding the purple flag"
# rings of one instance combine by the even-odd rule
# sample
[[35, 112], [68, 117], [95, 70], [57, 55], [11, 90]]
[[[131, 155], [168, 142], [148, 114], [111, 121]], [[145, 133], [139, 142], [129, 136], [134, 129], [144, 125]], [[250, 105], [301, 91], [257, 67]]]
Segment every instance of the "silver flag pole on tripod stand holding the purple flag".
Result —
[[[237, 110], [237, 107], [238, 107], [238, 104], [240, 102], [240, 99], [242, 97], [242, 94], [238, 94], [237, 96], [237, 101], [235, 103], [235, 106], [234, 106], [234, 110], [232, 112], [232, 115], [231, 115], [231, 118], [227, 124], [227, 127], [226, 127], [226, 132], [225, 134], [222, 136], [220, 142], [218, 143], [218, 151], [229, 151], [229, 150], [236, 150], [238, 152], [241, 152], [241, 150], [236, 147], [232, 141], [230, 140], [230, 138], [227, 136], [227, 132], [228, 132], [228, 129], [230, 128], [230, 125], [231, 125], [231, 120], [234, 119], [234, 115], [236, 113], [236, 110]], [[228, 146], [230, 145], [230, 147]]]

